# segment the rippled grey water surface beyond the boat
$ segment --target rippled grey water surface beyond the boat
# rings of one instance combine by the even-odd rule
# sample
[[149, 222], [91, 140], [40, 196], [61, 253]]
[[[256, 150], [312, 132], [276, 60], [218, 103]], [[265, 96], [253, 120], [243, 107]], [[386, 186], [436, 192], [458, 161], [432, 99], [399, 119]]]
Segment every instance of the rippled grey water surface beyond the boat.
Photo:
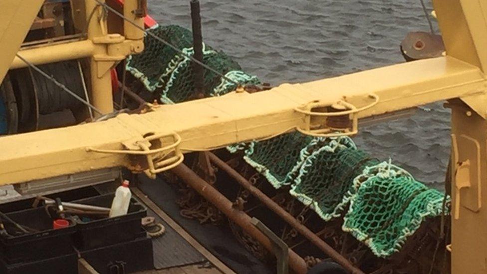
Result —
[[[428, 31], [419, 0], [201, 3], [205, 41], [274, 85], [403, 62], [399, 44], [405, 35]], [[191, 26], [189, 0], [149, 0], [149, 12], [161, 24]], [[354, 140], [441, 189], [450, 153], [449, 119], [449, 111], [436, 103], [410, 118], [361, 128]]]

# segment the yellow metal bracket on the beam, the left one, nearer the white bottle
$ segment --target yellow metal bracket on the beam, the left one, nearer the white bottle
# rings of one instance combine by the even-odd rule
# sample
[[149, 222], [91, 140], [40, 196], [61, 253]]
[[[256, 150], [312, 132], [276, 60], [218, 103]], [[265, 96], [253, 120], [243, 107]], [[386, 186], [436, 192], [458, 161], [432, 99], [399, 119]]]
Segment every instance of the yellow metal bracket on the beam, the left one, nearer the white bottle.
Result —
[[[168, 139], [171, 140], [171, 143], [163, 146]], [[156, 145], [156, 143], [158, 144]], [[145, 156], [149, 169], [144, 172], [149, 177], [154, 178], [157, 173], [172, 169], [183, 162], [184, 156], [179, 148], [180, 144], [181, 137], [177, 133], [172, 132], [152, 134], [138, 141], [130, 142], [130, 144], [124, 143], [127, 150], [107, 150], [89, 147], [86, 148], [86, 151]], [[151, 149], [151, 146], [159, 147]]]

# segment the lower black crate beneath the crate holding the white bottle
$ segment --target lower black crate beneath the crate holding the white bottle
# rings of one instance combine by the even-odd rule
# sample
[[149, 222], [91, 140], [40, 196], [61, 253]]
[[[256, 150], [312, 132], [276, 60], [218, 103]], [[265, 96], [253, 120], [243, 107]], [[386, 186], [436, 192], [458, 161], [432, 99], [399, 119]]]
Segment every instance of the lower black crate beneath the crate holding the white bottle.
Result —
[[81, 258], [100, 274], [133, 273], [154, 269], [152, 239], [147, 237], [83, 251]]

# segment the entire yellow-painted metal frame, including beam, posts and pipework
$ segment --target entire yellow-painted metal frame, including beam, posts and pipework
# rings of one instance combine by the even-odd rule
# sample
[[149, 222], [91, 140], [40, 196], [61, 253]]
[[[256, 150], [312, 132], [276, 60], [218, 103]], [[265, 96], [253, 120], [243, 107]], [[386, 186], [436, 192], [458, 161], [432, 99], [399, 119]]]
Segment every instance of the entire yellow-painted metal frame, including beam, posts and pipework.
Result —
[[[42, 0], [26, 2], [0, 2], [2, 10], [11, 11], [0, 14], [0, 79], [9, 67], [24, 66], [14, 55]], [[128, 54], [143, 50], [143, 33], [125, 23], [125, 37], [108, 34], [102, 9], [93, 0], [85, 3], [87, 11], [94, 11], [87, 40], [18, 53], [35, 64], [89, 57], [92, 102], [108, 113], [112, 96], [107, 72]], [[334, 133], [325, 121], [331, 115], [349, 115], [352, 127], [340, 134], [351, 135], [361, 118], [449, 100], [454, 218], [452, 244], [447, 249], [452, 252], [452, 272], [487, 273], [487, 1], [433, 0], [433, 4], [445, 57], [2, 137], [0, 185], [114, 166], [153, 176], [180, 163], [182, 153], [189, 151], [270, 138], [290, 130], [330, 136]], [[142, 19], [131, 13], [136, 5], [137, 0], [125, 0], [124, 14], [142, 25]], [[89, 17], [90, 12], [86, 13]], [[373, 105], [370, 94], [375, 95]], [[337, 102], [348, 110], [313, 111]]]

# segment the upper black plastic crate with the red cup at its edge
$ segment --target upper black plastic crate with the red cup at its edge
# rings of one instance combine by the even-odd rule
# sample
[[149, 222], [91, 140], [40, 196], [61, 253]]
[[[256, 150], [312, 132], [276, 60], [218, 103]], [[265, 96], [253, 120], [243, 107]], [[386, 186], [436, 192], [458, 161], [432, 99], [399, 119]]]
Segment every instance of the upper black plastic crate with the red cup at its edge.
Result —
[[17, 224], [37, 232], [16, 234], [18, 229], [2, 218], [3, 225], [10, 235], [0, 237], [0, 254], [5, 263], [38, 261], [73, 253], [73, 222], [70, 222], [67, 228], [54, 230], [53, 219], [43, 207], [16, 211], [6, 216]]

